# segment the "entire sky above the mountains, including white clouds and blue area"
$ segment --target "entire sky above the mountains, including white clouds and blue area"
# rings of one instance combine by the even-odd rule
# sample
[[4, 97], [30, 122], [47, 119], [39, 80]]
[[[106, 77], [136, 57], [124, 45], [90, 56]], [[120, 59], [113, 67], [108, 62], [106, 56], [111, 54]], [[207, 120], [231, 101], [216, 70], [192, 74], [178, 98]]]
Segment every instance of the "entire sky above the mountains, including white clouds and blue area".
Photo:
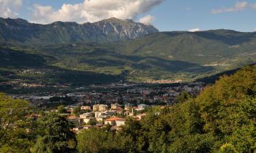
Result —
[[[256, 1], [253, 0], [117, 0], [120, 2], [137, 1], [141, 3], [138, 7], [132, 9], [130, 9], [130, 7], [133, 7], [132, 4], [125, 2], [122, 4], [112, 4], [112, 0], [90, 0], [86, 3], [84, 0], [7, 1], [22, 1], [22, 6], [18, 9], [13, 9], [16, 14], [2, 17], [25, 18], [31, 22], [43, 24], [53, 22], [54, 20], [94, 22], [111, 17], [111, 13], [109, 12], [108, 15], [105, 15], [108, 11], [107, 9], [111, 9], [111, 6], [123, 8], [122, 5], [124, 5], [127, 11], [115, 13], [116, 17], [133, 18], [139, 21], [140, 18], [144, 16], [150, 16], [152, 18], [150, 18], [149, 22], [160, 31], [188, 31], [190, 29], [256, 30]], [[100, 5], [99, 1], [109, 1], [111, 5], [104, 7], [106, 4]], [[68, 13], [64, 8], [61, 9], [63, 3], [70, 4], [70, 7], [66, 8], [68, 9]], [[86, 6], [83, 6], [83, 3], [85, 3]], [[76, 7], [76, 4], [79, 5]], [[100, 11], [97, 10], [99, 7], [102, 8]], [[57, 10], [59, 9], [62, 11], [58, 12]], [[85, 16], [81, 17], [80, 14], [83, 10], [87, 12], [85, 12]], [[104, 12], [102, 10], [104, 10]], [[133, 12], [134, 10], [137, 10], [137, 12]], [[3, 8], [1, 10], [0, 7], [0, 13], [3, 11]], [[93, 16], [88, 17], [91, 15], [90, 13], [93, 14]], [[122, 15], [122, 13], [124, 13], [124, 15]], [[154, 20], [151, 20], [153, 18]]]

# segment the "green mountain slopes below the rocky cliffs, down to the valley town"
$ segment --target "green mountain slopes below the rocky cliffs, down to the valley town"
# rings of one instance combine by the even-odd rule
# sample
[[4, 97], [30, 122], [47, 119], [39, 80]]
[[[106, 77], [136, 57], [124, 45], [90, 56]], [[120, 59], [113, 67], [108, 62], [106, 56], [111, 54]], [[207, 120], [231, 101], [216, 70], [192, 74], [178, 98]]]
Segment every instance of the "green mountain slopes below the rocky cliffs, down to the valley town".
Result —
[[[119, 80], [150, 83], [190, 82], [253, 64], [256, 61], [256, 33], [223, 29], [196, 33], [186, 31], [152, 33], [137, 39], [100, 44], [68, 42], [40, 46], [5, 44], [5, 48], [23, 52], [24, 57], [27, 58], [33, 54], [36, 62], [27, 63], [28, 68], [39, 65], [38, 67], [47, 67], [46, 69], [54, 67], [65, 70], [70, 75], [78, 72], [98, 76], [84, 81], [82, 77], [83, 84], [105, 83], [105, 76], [106, 78], [114, 76], [114, 79], [108, 82]], [[18, 57], [12, 56], [14, 61], [9, 63], [5, 56], [0, 58], [1, 63], [7, 62], [1, 67], [6, 67], [14, 65]], [[40, 61], [42, 62], [39, 63]], [[5, 73], [12, 69], [7, 67], [2, 71]], [[57, 77], [51, 74], [47, 73], [40, 80], [53, 78], [51, 82], [59, 82], [56, 80]], [[62, 82], [68, 82], [68, 79]]]

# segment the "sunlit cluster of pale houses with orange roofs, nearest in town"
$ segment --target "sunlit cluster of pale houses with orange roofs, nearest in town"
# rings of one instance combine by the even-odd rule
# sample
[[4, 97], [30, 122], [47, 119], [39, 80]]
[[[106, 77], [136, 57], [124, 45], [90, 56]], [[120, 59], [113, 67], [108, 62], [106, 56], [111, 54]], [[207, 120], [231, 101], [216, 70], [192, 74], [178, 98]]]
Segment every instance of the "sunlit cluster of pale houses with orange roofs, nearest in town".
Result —
[[108, 105], [97, 104], [93, 105], [91, 109], [90, 106], [83, 105], [81, 106], [81, 110], [87, 110], [89, 112], [80, 114], [79, 116], [70, 114], [66, 118], [68, 121], [76, 124], [76, 128], [73, 129], [76, 132], [81, 129], [102, 128], [106, 125], [111, 126], [111, 129], [113, 130], [119, 130], [126, 123], [126, 118], [124, 118], [124, 116], [130, 116], [136, 120], [141, 120], [146, 114], [135, 114], [134, 112], [142, 111], [146, 107], [147, 105], [144, 104], [138, 105], [138, 107], [126, 105], [123, 109], [118, 103], [113, 103], [110, 108]]

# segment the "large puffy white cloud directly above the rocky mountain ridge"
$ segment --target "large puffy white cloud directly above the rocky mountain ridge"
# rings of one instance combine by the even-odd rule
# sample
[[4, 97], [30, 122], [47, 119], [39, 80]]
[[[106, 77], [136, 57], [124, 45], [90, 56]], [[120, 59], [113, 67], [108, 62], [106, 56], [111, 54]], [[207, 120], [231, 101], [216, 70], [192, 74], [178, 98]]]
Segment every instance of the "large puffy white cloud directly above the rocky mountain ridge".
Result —
[[83, 3], [64, 3], [59, 10], [51, 6], [34, 5], [31, 22], [50, 23], [57, 20], [96, 22], [105, 18], [134, 19], [165, 0], [85, 0]]

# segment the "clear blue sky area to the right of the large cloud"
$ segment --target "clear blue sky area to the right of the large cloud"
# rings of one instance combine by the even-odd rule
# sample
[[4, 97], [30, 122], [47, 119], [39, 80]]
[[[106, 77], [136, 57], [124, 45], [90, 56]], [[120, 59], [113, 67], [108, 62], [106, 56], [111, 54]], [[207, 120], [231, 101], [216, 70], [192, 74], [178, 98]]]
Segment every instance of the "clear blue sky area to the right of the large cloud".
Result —
[[[161, 31], [181, 31], [199, 28], [233, 29], [254, 31], [256, 28], [256, 9], [213, 14], [212, 10], [229, 8], [239, 1], [233, 0], [167, 0], [155, 7], [149, 14], [155, 16], [153, 23]], [[256, 1], [247, 1], [256, 3]]]

